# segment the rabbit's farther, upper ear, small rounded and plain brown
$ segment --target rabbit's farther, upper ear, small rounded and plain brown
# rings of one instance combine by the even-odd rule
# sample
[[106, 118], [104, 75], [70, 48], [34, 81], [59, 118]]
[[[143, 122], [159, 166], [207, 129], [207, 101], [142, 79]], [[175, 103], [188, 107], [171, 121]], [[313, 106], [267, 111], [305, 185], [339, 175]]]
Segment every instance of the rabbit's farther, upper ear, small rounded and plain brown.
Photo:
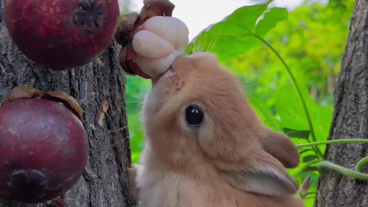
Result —
[[266, 136], [259, 139], [263, 150], [278, 159], [286, 168], [296, 168], [300, 162], [297, 147], [285, 134], [266, 129]]

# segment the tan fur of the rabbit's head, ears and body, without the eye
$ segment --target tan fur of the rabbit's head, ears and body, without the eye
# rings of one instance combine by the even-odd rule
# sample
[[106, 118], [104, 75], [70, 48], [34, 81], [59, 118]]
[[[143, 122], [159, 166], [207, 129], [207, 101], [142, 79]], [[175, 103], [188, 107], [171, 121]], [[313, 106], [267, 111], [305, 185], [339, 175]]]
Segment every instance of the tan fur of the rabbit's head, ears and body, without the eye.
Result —
[[[198, 129], [191, 104], [204, 112]], [[142, 122], [142, 166], [130, 169], [140, 207], [304, 207], [285, 170], [299, 164], [296, 146], [262, 123], [216, 55], [178, 57], [153, 79]]]

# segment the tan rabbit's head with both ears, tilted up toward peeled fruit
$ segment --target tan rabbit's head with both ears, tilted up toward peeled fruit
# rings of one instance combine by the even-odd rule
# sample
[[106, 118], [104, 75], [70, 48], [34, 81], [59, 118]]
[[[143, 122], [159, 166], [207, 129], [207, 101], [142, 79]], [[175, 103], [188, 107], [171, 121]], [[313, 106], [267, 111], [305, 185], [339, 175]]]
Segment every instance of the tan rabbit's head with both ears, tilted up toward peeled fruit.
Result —
[[297, 192], [285, 170], [298, 165], [297, 148], [262, 123], [237, 78], [212, 53], [178, 57], [152, 80], [143, 125], [149, 147], [170, 169], [197, 173], [207, 168], [253, 193]]

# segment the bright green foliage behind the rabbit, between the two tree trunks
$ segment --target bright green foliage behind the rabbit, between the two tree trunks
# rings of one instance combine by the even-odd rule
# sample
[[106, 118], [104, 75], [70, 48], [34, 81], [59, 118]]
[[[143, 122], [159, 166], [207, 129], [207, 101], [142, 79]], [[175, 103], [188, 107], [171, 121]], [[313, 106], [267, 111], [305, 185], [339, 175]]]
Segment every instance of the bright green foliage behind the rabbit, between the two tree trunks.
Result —
[[[188, 47], [217, 53], [226, 68], [237, 74], [246, 95], [264, 123], [288, 134], [296, 144], [309, 143], [311, 129], [300, 96], [280, 59], [258, 38], [267, 41], [289, 66], [307, 105], [317, 141], [328, 137], [333, 112], [333, 90], [354, 9], [354, 0], [330, 0], [328, 4], [305, 1], [287, 12], [268, 5], [241, 7], [226, 21], [203, 32]], [[263, 14], [263, 19], [259, 17]], [[144, 148], [141, 103], [151, 82], [127, 77], [127, 112], [133, 162]], [[322, 153], [325, 146], [319, 146]], [[321, 157], [311, 147], [300, 149], [301, 163], [288, 171], [301, 184], [310, 175], [312, 207]]]

